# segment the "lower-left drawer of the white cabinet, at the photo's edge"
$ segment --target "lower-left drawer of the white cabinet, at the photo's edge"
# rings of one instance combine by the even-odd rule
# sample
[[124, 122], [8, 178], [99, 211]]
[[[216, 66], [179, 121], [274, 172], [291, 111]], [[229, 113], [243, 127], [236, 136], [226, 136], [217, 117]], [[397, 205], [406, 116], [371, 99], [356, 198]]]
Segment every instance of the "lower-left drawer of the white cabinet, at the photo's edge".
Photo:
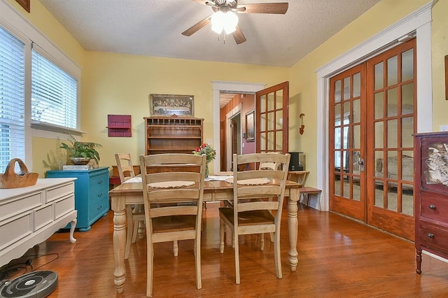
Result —
[[31, 234], [31, 212], [0, 222], [1, 250]]

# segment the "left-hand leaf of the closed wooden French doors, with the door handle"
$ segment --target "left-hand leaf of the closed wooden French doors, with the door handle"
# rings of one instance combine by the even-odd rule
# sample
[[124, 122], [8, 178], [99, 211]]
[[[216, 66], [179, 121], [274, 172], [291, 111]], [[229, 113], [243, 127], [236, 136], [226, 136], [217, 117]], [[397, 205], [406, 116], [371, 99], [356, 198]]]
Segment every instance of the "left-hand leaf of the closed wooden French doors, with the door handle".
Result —
[[330, 210], [365, 221], [365, 64], [330, 78]]

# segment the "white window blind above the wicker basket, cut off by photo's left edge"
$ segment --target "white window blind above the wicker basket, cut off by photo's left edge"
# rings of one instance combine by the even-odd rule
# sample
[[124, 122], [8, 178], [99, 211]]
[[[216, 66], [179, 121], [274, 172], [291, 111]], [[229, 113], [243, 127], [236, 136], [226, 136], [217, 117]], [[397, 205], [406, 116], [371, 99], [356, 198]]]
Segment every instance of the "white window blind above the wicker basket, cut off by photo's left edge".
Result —
[[25, 44], [0, 27], [0, 171], [25, 160]]

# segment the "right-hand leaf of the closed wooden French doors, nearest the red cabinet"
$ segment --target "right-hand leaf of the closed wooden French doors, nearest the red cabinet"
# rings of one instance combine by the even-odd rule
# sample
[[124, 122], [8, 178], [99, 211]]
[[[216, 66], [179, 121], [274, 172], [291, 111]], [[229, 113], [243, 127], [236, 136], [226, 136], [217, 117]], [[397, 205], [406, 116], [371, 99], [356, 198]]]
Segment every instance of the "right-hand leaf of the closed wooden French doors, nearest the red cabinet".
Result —
[[367, 223], [414, 240], [416, 40], [367, 62]]

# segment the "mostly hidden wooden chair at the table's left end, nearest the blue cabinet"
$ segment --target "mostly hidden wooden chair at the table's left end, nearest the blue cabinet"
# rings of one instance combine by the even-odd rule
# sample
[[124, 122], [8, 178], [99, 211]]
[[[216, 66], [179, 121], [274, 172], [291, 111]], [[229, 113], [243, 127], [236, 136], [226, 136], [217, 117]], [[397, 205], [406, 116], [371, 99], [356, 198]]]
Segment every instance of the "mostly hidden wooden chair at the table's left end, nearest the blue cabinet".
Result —
[[[134, 166], [130, 153], [116, 153], [115, 159], [117, 162], [118, 174], [120, 175], [120, 183], [125, 183], [126, 180], [135, 177]], [[126, 206], [127, 213], [127, 238], [125, 246], [125, 259], [129, 257], [131, 243], [137, 240], [139, 225], [144, 225], [145, 213], [143, 204]]]

